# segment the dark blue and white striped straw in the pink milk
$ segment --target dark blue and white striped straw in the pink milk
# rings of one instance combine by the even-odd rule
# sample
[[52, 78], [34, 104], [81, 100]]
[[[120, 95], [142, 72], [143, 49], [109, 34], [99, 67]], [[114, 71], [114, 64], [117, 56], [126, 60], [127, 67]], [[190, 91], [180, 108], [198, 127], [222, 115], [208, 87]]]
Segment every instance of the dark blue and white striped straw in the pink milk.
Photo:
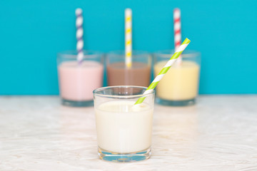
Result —
[[82, 16], [82, 9], [76, 9], [76, 39], [77, 39], [77, 44], [76, 44], [76, 49], [78, 51], [78, 56], [77, 56], [77, 61], [79, 64], [82, 63], [84, 53], [83, 53], [83, 46], [84, 46], [84, 41], [83, 41], [83, 16]]

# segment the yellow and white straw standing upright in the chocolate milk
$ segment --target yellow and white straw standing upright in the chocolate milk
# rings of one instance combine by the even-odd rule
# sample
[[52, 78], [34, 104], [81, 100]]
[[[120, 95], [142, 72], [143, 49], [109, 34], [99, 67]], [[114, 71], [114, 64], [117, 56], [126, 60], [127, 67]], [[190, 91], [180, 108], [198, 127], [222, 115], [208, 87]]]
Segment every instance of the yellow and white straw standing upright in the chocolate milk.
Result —
[[132, 11], [125, 10], [125, 63], [127, 68], [131, 68], [132, 62]]

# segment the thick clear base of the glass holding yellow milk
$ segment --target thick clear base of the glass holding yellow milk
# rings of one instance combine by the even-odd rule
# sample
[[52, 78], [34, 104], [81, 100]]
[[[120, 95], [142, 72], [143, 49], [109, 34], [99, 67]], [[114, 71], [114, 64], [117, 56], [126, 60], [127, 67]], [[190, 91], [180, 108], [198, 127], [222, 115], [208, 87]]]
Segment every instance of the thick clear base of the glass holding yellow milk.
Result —
[[196, 104], [196, 98], [192, 98], [189, 100], [163, 100], [157, 97], [156, 102], [160, 105], [186, 106]]

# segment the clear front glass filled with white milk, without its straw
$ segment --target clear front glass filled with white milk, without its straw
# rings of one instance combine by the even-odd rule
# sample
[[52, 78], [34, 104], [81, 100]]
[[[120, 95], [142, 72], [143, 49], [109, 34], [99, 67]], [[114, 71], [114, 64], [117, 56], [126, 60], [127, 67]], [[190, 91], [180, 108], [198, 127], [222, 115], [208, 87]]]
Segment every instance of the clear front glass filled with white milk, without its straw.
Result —
[[[94, 90], [98, 154], [103, 160], [134, 162], [151, 155], [154, 94], [146, 87], [110, 86]], [[145, 96], [140, 105], [138, 98]]]

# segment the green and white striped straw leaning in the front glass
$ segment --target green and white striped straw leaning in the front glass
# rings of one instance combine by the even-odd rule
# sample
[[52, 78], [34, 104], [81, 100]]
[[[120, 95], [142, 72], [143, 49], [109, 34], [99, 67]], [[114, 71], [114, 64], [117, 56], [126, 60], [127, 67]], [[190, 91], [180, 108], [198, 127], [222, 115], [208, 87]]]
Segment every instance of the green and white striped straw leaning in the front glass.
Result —
[[[150, 86], [148, 86], [148, 88], [143, 93], [143, 95], [151, 93], [152, 90], [156, 88], [158, 82], [161, 81], [161, 78], [163, 78], [163, 76], [167, 73], [168, 69], [171, 68], [172, 64], [177, 60], [178, 56], [181, 55], [181, 53], [183, 52], [183, 50], [185, 50], [186, 46], [188, 46], [189, 43], [190, 43], [190, 40], [186, 38], [185, 41], [183, 41], [183, 43], [181, 44], [181, 46], [178, 47], [178, 49], [173, 54], [173, 56], [171, 56], [170, 60], [166, 63], [166, 65], [163, 66], [163, 68], [161, 69], [161, 72], [158, 73], [158, 76], [156, 76], [156, 78], [154, 78], [153, 82], [150, 84]], [[138, 98], [138, 100], [134, 105], [141, 104], [145, 98], [146, 97]]]

